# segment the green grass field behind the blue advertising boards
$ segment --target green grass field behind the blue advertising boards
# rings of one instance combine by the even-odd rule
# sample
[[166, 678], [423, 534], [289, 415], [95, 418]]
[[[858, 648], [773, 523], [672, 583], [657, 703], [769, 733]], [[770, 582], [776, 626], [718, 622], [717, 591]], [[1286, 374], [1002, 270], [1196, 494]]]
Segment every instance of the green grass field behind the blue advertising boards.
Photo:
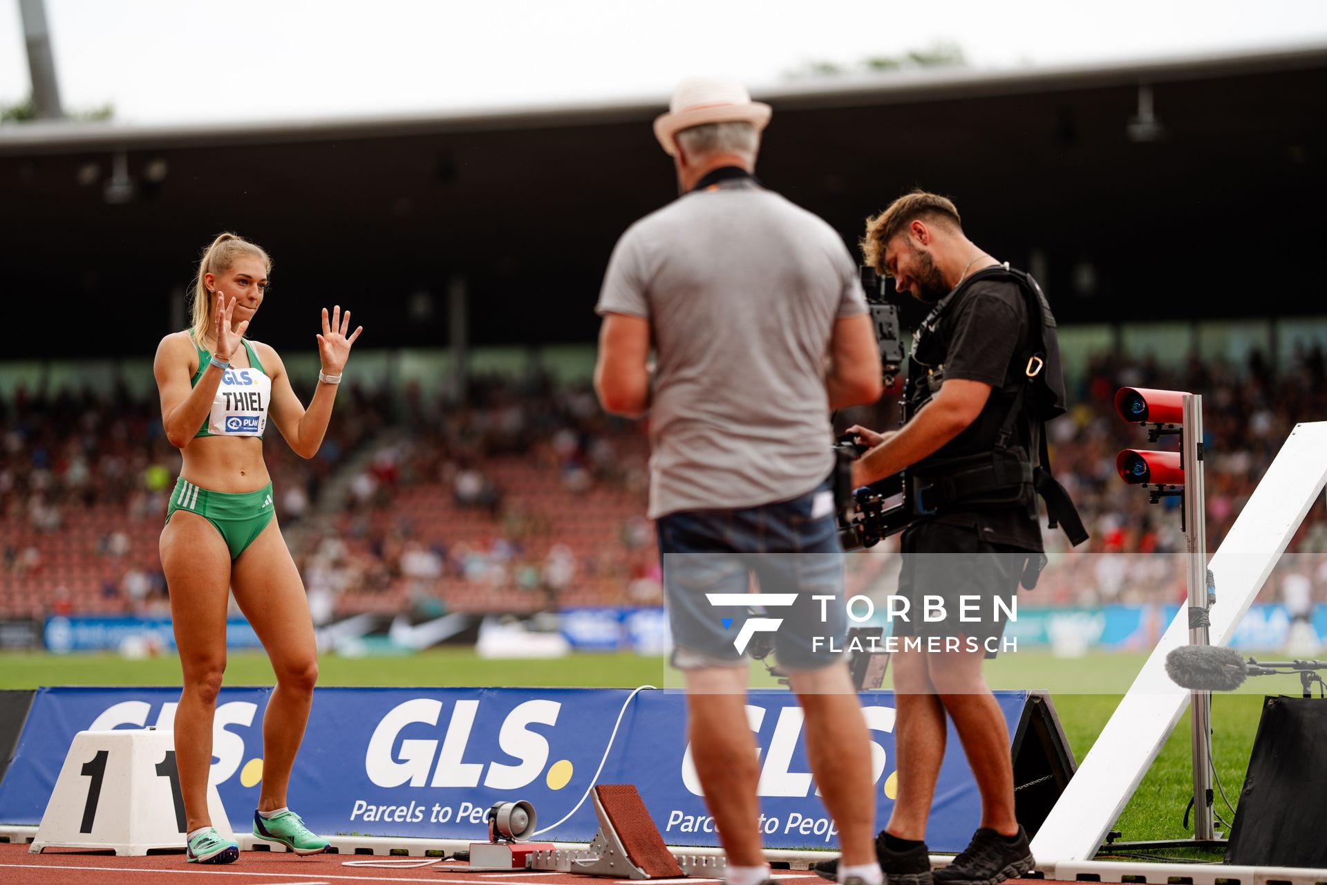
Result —
[[[1087, 755], [1120, 695], [1143, 666], [1143, 654], [1091, 654], [1054, 658], [1024, 650], [1002, 655], [987, 665], [987, 679], [997, 689], [1046, 689], [1059, 713], [1074, 756]], [[324, 686], [598, 686], [677, 685], [665, 674], [661, 658], [633, 654], [577, 654], [552, 661], [484, 661], [470, 649], [434, 650], [409, 657], [320, 659], [318, 683]], [[763, 673], [754, 682], [772, 685]], [[228, 685], [264, 685], [273, 679], [261, 653], [231, 653]], [[0, 689], [32, 689], [42, 685], [178, 685], [179, 663], [173, 657], [130, 661], [113, 654], [0, 654]], [[1246, 683], [1239, 693], [1218, 695], [1213, 702], [1214, 756], [1217, 772], [1231, 803], [1238, 801], [1245, 768], [1253, 747], [1263, 694], [1299, 694], [1294, 677], [1269, 677]], [[1184, 715], [1143, 779], [1115, 829], [1127, 840], [1182, 839], [1184, 808], [1192, 792], [1189, 774], [1189, 716]], [[1218, 813], [1225, 804], [1217, 797]], [[1229, 821], [1229, 813], [1223, 815]], [[1218, 829], [1223, 829], [1218, 824]], [[1186, 851], [1173, 854], [1214, 858]]]

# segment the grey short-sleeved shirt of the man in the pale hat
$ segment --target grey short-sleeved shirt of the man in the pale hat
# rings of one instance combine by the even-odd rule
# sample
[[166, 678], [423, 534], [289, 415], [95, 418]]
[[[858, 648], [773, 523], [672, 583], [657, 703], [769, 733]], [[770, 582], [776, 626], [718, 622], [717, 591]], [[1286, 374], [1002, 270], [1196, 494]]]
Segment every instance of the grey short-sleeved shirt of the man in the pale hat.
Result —
[[867, 304], [823, 220], [750, 179], [693, 191], [628, 228], [596, 310], [650, 322], [652, 519], [829, 476], [829, 341]]

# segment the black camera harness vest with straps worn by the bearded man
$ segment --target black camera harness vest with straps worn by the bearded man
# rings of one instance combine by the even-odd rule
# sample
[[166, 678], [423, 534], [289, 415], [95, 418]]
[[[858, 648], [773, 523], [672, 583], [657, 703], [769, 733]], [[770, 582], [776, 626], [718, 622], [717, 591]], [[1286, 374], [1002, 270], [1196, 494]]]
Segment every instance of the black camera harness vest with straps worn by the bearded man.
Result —
[[[1040, 287], [1031, 276], [1015, 271], [1007, 264], [983, 268], [965, 279], [936, 304], [913, 337], [913, 356], [909, 361], [910, 368], [904, 395], [904, 403], [909, 413], [906, 417], [917, 414], [917, 410], [929, 402], [938, 389], [938, 385], [933, 386], [932, 383], [934, 369], [917, 358], [918, 350], [924, 348], [929, 336], [934, 334], [945, 313], [970, 291], [973, 283], [991, 279], [1015, 283], [1027, 304], [1026, 383], [1018, 387], [1018, 394], [997, 434], [993, 451], [922, 462], [918, 467], [908, 471], [909, 496], [913, 500], [914, 512], [920, 516], [930, 516], [941, 510], [954, 510], [954, 506], [967, 510], [1024, 504], [1028, 508], [1028, 515], [1035, 519], [1036, 495], [1040, 495], [1046, 500], [1048, 527], [1056, 528], [1059, 525], [1063, 528], [1070, 543], [1076, 547], [1087, 540], [1087, 531], [1083, 528], [1083, 520], [1079, 517], [1074, 502], [1070, 500], [1068, 492], [1051, 474], [1051, 456], [1046, 443], [1046, 422], [1064, 414], [1064, 391], [1052, 386], [1056, 379], [1047, 377], [1047, 374], [1058, 375], [1060, 368], [1059, 346], [1054, 337], [1050, 342], [1047, 341], [1047, 329], [1054, 328], [1055, 321], [1051, 317], [1046, 296], [1042, 295]], [[1047, 364], [1051, 365], [1051, 373], [1043, 372]], [[925, 369], [925, 374], [920, 369]], [[1063, 385], [1063, 381], [1060, 383]], [[924, 390], [925, 393], [922, 393]], [[1036, 463], [1028, 460], [1019, 447], [1013, 446], [1014, 431], [1020, 415], [1027, 417], [1028, 452], [1036, 451]]]

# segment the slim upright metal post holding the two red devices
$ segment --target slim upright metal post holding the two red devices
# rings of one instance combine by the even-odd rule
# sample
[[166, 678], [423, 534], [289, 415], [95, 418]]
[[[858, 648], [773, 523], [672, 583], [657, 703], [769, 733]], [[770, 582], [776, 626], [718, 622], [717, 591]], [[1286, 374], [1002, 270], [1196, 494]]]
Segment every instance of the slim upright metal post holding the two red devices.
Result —
[[[1189, 645], [1208, 645], [1208, 508], [1202, 494], [1202, 397], [1184, 395], [1185, 582], [1189, 586]], [[1216, 839], [1212, 825], [1212, 693], [1189, 695], [1193, 743], [1193, 837]]]

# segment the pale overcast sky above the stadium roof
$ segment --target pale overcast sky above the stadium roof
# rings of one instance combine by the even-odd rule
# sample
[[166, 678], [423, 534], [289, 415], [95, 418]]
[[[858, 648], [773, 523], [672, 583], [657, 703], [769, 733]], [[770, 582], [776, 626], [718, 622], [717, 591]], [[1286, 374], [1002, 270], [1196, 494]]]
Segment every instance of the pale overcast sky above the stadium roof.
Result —
[[[937, 41], [978, 69], [1327, 44], [1322, 0], [45, 0], [66, 110], [123, 122], [666, 100]], [[0, 0], [0, 103], [28, 94]]]

